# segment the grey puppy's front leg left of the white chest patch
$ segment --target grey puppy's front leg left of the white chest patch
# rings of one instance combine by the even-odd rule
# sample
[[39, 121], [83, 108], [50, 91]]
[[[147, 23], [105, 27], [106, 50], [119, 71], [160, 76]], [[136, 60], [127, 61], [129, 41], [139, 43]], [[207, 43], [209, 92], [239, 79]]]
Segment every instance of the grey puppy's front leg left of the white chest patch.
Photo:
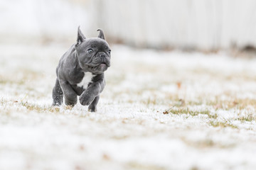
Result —
[[75, 93], [68, 81], [60, 80], [61, 89], [63, 89], [63, 94], [65, 98], [65, 104], [68, 106], [75, 106], [78, 102], [78, 95]]

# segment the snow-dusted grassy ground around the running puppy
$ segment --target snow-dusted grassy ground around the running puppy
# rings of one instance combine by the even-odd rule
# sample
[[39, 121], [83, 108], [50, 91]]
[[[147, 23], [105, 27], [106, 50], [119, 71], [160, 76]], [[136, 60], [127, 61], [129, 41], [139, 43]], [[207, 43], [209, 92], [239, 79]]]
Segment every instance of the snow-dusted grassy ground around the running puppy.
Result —
[[97, 113], [50, 107], [69, 46], [0, 46], [0, 169], [255, 169], [254, 58], [111, 46]]

